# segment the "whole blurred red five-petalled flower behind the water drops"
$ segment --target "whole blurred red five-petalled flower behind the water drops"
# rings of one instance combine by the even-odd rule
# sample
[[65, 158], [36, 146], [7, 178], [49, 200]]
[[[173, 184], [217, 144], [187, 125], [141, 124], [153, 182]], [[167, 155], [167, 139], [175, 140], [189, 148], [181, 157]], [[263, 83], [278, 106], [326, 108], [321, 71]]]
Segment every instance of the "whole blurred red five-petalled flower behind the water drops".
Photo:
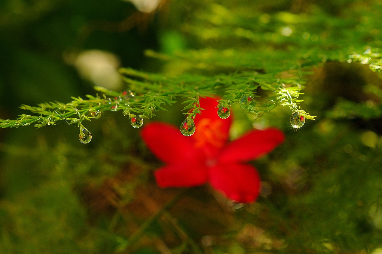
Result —
[[146, 125], [141, 136], [165, 166], [155, 171], [160, 187], [191, 187], [209, 182], [237, 202], [253, 202], [260, 191], [256, 169], [245, 162], [259, 158], [283, 142], [277, 129], [252, 130], [227, 143], [232, 117], [217, 116], [217, 101], [201, 99], [202, 116], [195, 119], [196, 131], [185, 137], [169, 124]]

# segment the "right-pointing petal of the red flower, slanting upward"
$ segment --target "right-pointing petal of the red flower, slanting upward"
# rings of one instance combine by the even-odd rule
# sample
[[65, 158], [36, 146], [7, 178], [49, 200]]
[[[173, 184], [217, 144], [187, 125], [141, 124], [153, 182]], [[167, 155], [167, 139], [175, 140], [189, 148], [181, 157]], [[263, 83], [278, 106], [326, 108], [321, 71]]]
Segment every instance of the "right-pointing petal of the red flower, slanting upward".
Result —
[[253, 130], [230, 143], [220, 154], [220, 162], [249, 161], [272, 151], [284, 141], [277, 129]]

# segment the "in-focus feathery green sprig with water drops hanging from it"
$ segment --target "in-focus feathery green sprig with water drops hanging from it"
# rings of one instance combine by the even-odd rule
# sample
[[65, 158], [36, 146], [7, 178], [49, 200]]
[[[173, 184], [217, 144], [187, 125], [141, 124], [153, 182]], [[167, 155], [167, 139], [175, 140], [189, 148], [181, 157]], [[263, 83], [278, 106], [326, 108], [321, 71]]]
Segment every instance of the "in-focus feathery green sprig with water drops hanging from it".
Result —
[[[299, 83], [293, 82], [286, 86], [281, 82], [283, 80], [278, 79], [277, 82], [269, 84], [267, 77], [260, 77], [259, 79], [254, 77], [258, 73], [245, 72], [241, 75], [225, 77], [219, 75], [208, 79], [199, 77], [200, 80], [196, 82], [197, 77], [189, 77], [189, 75], [167, 78], [159, 75], [147, 75], [147, 73], [131, 69], [121, 69], [121, 72], [130, 77], [144, 79], [144, 81], [135, 81], [125, 77], [125, 81], [130, 84], [134, 91], [138, 91], [139, 95], [127, 97], [124, 93], [95, 87], [96, 90], [102, 92], [103, 98], [87, 95], [87, 100], [72, 97], [73, 101], [66, 104], [41, 103], [37, 107], [22, 105], [21, 109], [31, 111], [32, 114], [38, 116], [23, 114], [16, 120], [0, 119], [0, 128], [28, 126], [30, 124], [35, 124], [34, 126], [39, 128], [45, 125], [55, 125], [58, 120], [68, 120], [70, 121], [69, 124], [78, 123], [81, 125], [83, 120], [98, 118], [94, 116], [95, 112], [102, 114], [105, 111], [118, 110], [123, 110], [125, 116], [152, 117], [156, 111], [165, 110], [163, 107], [165, 104], [174, 104], [176, 96], [185, 98], [183, 103], [186, 106], [183, 111], [186, 111], [185, 114], [189, 117], [194, 118], [196, 114], [201, 114], [202, 108], [199, 105], [199, 98], [213, 96], [217, 94], [217, 90], [224, 88], [227, 89], [225, 90], [226, 95], [223, 96], [219, 106], [226, 107], [231, 104], [238, 104], [244, 96], [253, 96], [258, 87], [268, 90], [271, 94], [265, 98], [267, 101], [259, 107], [259, 110], [256, 112], [248, 111], [255, 114], [256, 117], [264, 116], [277, 105], [288, 106], [292, 111], [297, 111], [296, 103], [302, 102], [302, 100], [297, 99], [302, 94], [299, 91], [303, 88]], [[200, 83], [201, 81], [203, 84]], [[291, 82], [290, 79], [285, 81]], [[314, 119], [314, 116], [309, 116], [305, 111], [300, 110], [299, 112], [307, 119]]]

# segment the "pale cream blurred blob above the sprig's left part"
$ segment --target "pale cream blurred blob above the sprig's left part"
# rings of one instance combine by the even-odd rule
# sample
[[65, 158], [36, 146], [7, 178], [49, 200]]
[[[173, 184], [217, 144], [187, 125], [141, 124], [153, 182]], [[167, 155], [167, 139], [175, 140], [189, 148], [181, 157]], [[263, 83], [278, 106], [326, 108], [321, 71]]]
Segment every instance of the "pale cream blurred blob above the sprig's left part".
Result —
[[74, 65], [83, 78], [97, 86], [110, 90], [121, 88], [122, 82], [118, 73], [120, 61], [110, 52], [97, 49], [83, 51], [76, 58]]

